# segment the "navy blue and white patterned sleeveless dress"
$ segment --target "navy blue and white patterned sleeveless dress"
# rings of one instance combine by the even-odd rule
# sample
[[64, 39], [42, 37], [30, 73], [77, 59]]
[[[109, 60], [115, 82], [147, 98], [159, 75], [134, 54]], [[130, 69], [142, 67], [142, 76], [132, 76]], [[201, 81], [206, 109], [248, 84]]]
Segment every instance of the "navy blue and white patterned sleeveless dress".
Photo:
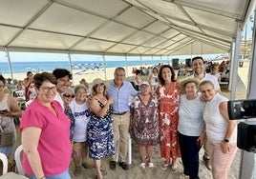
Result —
[[[97, 102], [101, 109], [104, 108], [100, 101], [97, 100]], [[91, 112], [91, 119], [87, 126], [87, 139], [89, 156], [93, 160], [100, 160], [105, 156], [115, 154], [112, 112], [112, 106], [103, 117], [98, 117], [94, 112]]]

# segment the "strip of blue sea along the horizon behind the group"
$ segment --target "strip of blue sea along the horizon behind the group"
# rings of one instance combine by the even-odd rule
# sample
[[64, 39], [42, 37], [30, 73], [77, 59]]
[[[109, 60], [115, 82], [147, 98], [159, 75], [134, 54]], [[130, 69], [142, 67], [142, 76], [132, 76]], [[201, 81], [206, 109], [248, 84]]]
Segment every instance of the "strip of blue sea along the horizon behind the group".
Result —
[[[106, 61], [106, 68], [131, 67], [131, 66], [156, 66], [158, 64], [170, 64], [169, 60], [143, 60], [143, 61]], [[40, 62], [11, 62], [12, 73], [24, 73], [27, 71], [51, 71], [56, 68], [70, 70], [69, 61], [40, 61]], [[96, 61], [72, 61], [73, 70], [104, 69], [103, 62]], [[10, 73], [8, 62], [0, 62], [0, 73]]]

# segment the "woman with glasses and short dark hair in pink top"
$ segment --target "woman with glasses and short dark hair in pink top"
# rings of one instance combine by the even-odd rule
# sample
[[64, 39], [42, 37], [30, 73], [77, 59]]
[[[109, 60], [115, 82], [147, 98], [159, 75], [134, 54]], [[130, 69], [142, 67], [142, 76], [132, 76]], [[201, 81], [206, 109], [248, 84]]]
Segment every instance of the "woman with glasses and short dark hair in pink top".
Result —
[[24, 171], [32, 179], [70, 179], [71, 122], [60, 104], [53, 101], [56, 78], [49, 72], [38, 73], [34, 85], [37, 97], [20, 124]]

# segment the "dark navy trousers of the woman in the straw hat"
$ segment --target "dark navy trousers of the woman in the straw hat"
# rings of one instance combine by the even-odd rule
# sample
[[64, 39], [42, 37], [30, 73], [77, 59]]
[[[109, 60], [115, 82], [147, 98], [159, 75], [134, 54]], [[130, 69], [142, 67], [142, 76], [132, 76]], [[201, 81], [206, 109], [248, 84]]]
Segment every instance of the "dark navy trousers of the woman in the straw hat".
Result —
[[197, 145], [199, 136], [187, 136], [179, 133], [181, 148], [181, 160], [184, 174], [189, 175], [190, 179], [199, 179], [199, 150]]

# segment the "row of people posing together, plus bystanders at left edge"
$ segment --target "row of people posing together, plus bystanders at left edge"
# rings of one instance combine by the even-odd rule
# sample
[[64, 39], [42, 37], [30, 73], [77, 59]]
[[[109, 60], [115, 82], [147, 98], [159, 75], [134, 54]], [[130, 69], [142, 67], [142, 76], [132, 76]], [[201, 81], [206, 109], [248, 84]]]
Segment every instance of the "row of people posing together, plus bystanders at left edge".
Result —
[[[69, 70], [37, 73], [33, 76], [36, 97], [30, 106], [21, 116], [14, 102], [5, 102], [8, 112], [0, 114], [1, 124], [21, 116], [23, 167], [32, 179], [70, 178], [71, 156], [76, 176], [82, 167], [89, 168], [88, 155], [94, 160], [97, 178], [106, 172], [100, 163], [105, 156], [112, 158], [110, 169], [117, 168], [118, 155], [118, 166], [127, 170], [129, 131], [139, 145], [141, 169], [155, 167], [153, 149], [160, 144], [161, 169], [170, 166], [177, 171], [177, 158], [181, 157], [181, 177], [199, 178], [203, 146], [203, 160], [212, 168], [213, 178], [227, 178], [237, 150], [236, 122], [228, 119], [227, 99], [217, 79], [204, 72], [203, 58], [194, 57], [192, 68], [193, 75], [178, 82], [173, 68], [162, 65], [160, 70], [153, 69], [154, 80], [140, 82], [139, 91], [125, 81], [125, 70], [117, 68], [109, 84], [96, 78], [90, 95], [84, 85], [70, 88]], [[0, 109], [7, 98], [2, 78]]]

